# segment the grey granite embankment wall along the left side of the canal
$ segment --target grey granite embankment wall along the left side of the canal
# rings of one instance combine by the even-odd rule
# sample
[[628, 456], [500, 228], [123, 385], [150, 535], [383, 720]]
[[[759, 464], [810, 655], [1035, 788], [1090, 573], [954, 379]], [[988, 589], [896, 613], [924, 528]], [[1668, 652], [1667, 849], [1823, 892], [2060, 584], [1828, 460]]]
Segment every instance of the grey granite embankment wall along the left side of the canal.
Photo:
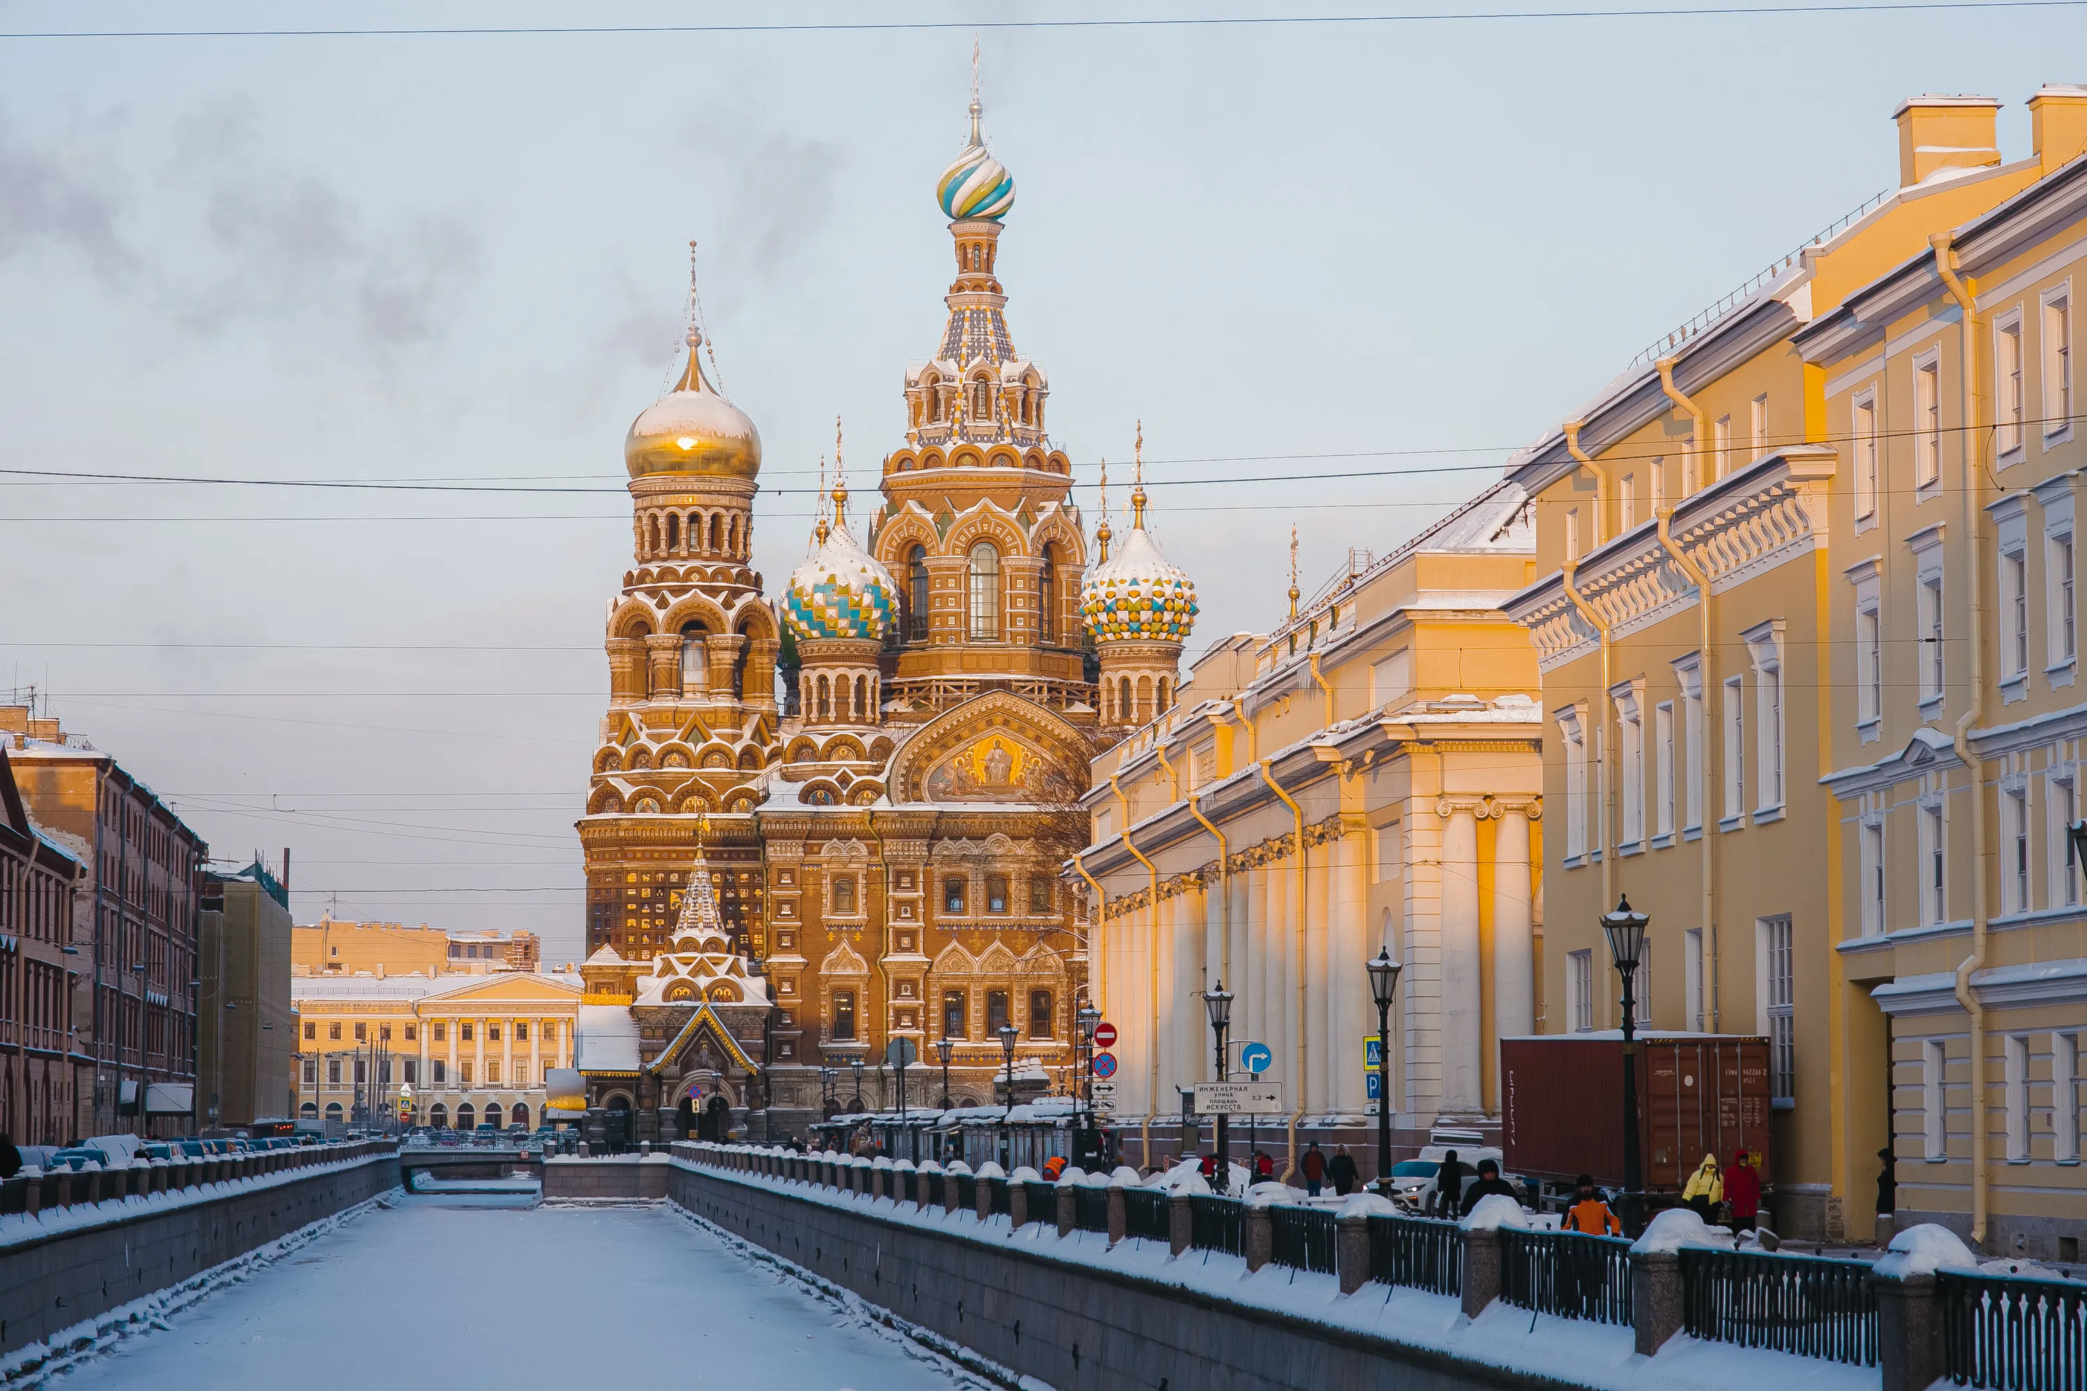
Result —
[[0, 1358], [399, 1187], [388, 1143], [313, 1160], [0, 1218]]

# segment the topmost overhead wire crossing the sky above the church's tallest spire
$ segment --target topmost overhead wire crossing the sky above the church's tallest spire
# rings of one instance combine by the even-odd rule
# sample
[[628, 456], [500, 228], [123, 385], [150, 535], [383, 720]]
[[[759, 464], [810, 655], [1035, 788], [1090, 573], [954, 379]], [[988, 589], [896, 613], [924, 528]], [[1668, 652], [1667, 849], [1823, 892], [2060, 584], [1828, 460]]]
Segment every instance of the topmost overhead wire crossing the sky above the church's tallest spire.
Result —
[[413, 25], [309, 29], [13, 29], [0, 40], [340, 40], [340, 38], [568, 38], [674, 33], [922, 33], [979, 29], [1275, 29], [1576, 19], [1724, 19], [1747, 15], [1903, 15], [1918, 10], [2045, 10], [2083, 0], [1870, 0], [1845, 4], [1690, 4], [1651, 8], [1423, 10], [1409, 15], [1121, 15], [1098, 19], [858, 19], [720, 25]]

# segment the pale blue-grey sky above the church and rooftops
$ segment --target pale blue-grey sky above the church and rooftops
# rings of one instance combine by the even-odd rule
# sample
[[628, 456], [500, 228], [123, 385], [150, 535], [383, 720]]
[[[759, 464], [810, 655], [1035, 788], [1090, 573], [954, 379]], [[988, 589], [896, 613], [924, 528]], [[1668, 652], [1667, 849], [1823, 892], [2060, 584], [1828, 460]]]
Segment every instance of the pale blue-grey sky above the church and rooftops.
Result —
[[[288, 13], [0, 4], [0, 31]], [[1338, 10], [305, 4], [309, 27], [958, 27], [0, 38], [0, 467], [584, 488], [0, 475], [0, 688], [48, 692], [215, 855], [294, 847], [301, 922], [530, 928], [570, 959], [622, 436], [668, 386], [687, 242], [766, 446], [774, 594], [833, 417], [864, 498], [941, 327], [968, 25], [1127, 13]], [[1390, 551], [1895, 184], [1899, 98], [1997, 96], [2029, 154], [2029, 94], [2087, 77], [2052, 67], [2083, 19], [983, 29], [1008, 321], [1089, 526], [1098, 459], [1127, 478], [1144, 419], [1194, 653], [1281, 615], [1292, 523], [1306, 590]]]

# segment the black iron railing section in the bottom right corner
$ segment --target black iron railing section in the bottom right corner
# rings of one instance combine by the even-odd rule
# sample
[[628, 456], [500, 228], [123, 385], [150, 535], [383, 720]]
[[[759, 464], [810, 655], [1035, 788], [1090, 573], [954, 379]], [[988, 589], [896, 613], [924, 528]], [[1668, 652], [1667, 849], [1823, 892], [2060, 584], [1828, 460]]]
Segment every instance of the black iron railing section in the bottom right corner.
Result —
[[2087, 1387], [2087, 1285], [1937, 1272], [1943, 1376], [1993, 1391]]

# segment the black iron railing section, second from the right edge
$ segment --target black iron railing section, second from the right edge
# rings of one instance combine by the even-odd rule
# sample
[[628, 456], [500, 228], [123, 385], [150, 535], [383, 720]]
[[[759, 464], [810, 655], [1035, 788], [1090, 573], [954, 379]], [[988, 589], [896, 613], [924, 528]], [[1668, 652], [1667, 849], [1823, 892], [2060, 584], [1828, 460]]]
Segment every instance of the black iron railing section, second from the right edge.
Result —
[[1682, 1328], [1693, 1337], [1876, 1366], [1868, 1262], [1701, 1249], [1680, 1262]]

